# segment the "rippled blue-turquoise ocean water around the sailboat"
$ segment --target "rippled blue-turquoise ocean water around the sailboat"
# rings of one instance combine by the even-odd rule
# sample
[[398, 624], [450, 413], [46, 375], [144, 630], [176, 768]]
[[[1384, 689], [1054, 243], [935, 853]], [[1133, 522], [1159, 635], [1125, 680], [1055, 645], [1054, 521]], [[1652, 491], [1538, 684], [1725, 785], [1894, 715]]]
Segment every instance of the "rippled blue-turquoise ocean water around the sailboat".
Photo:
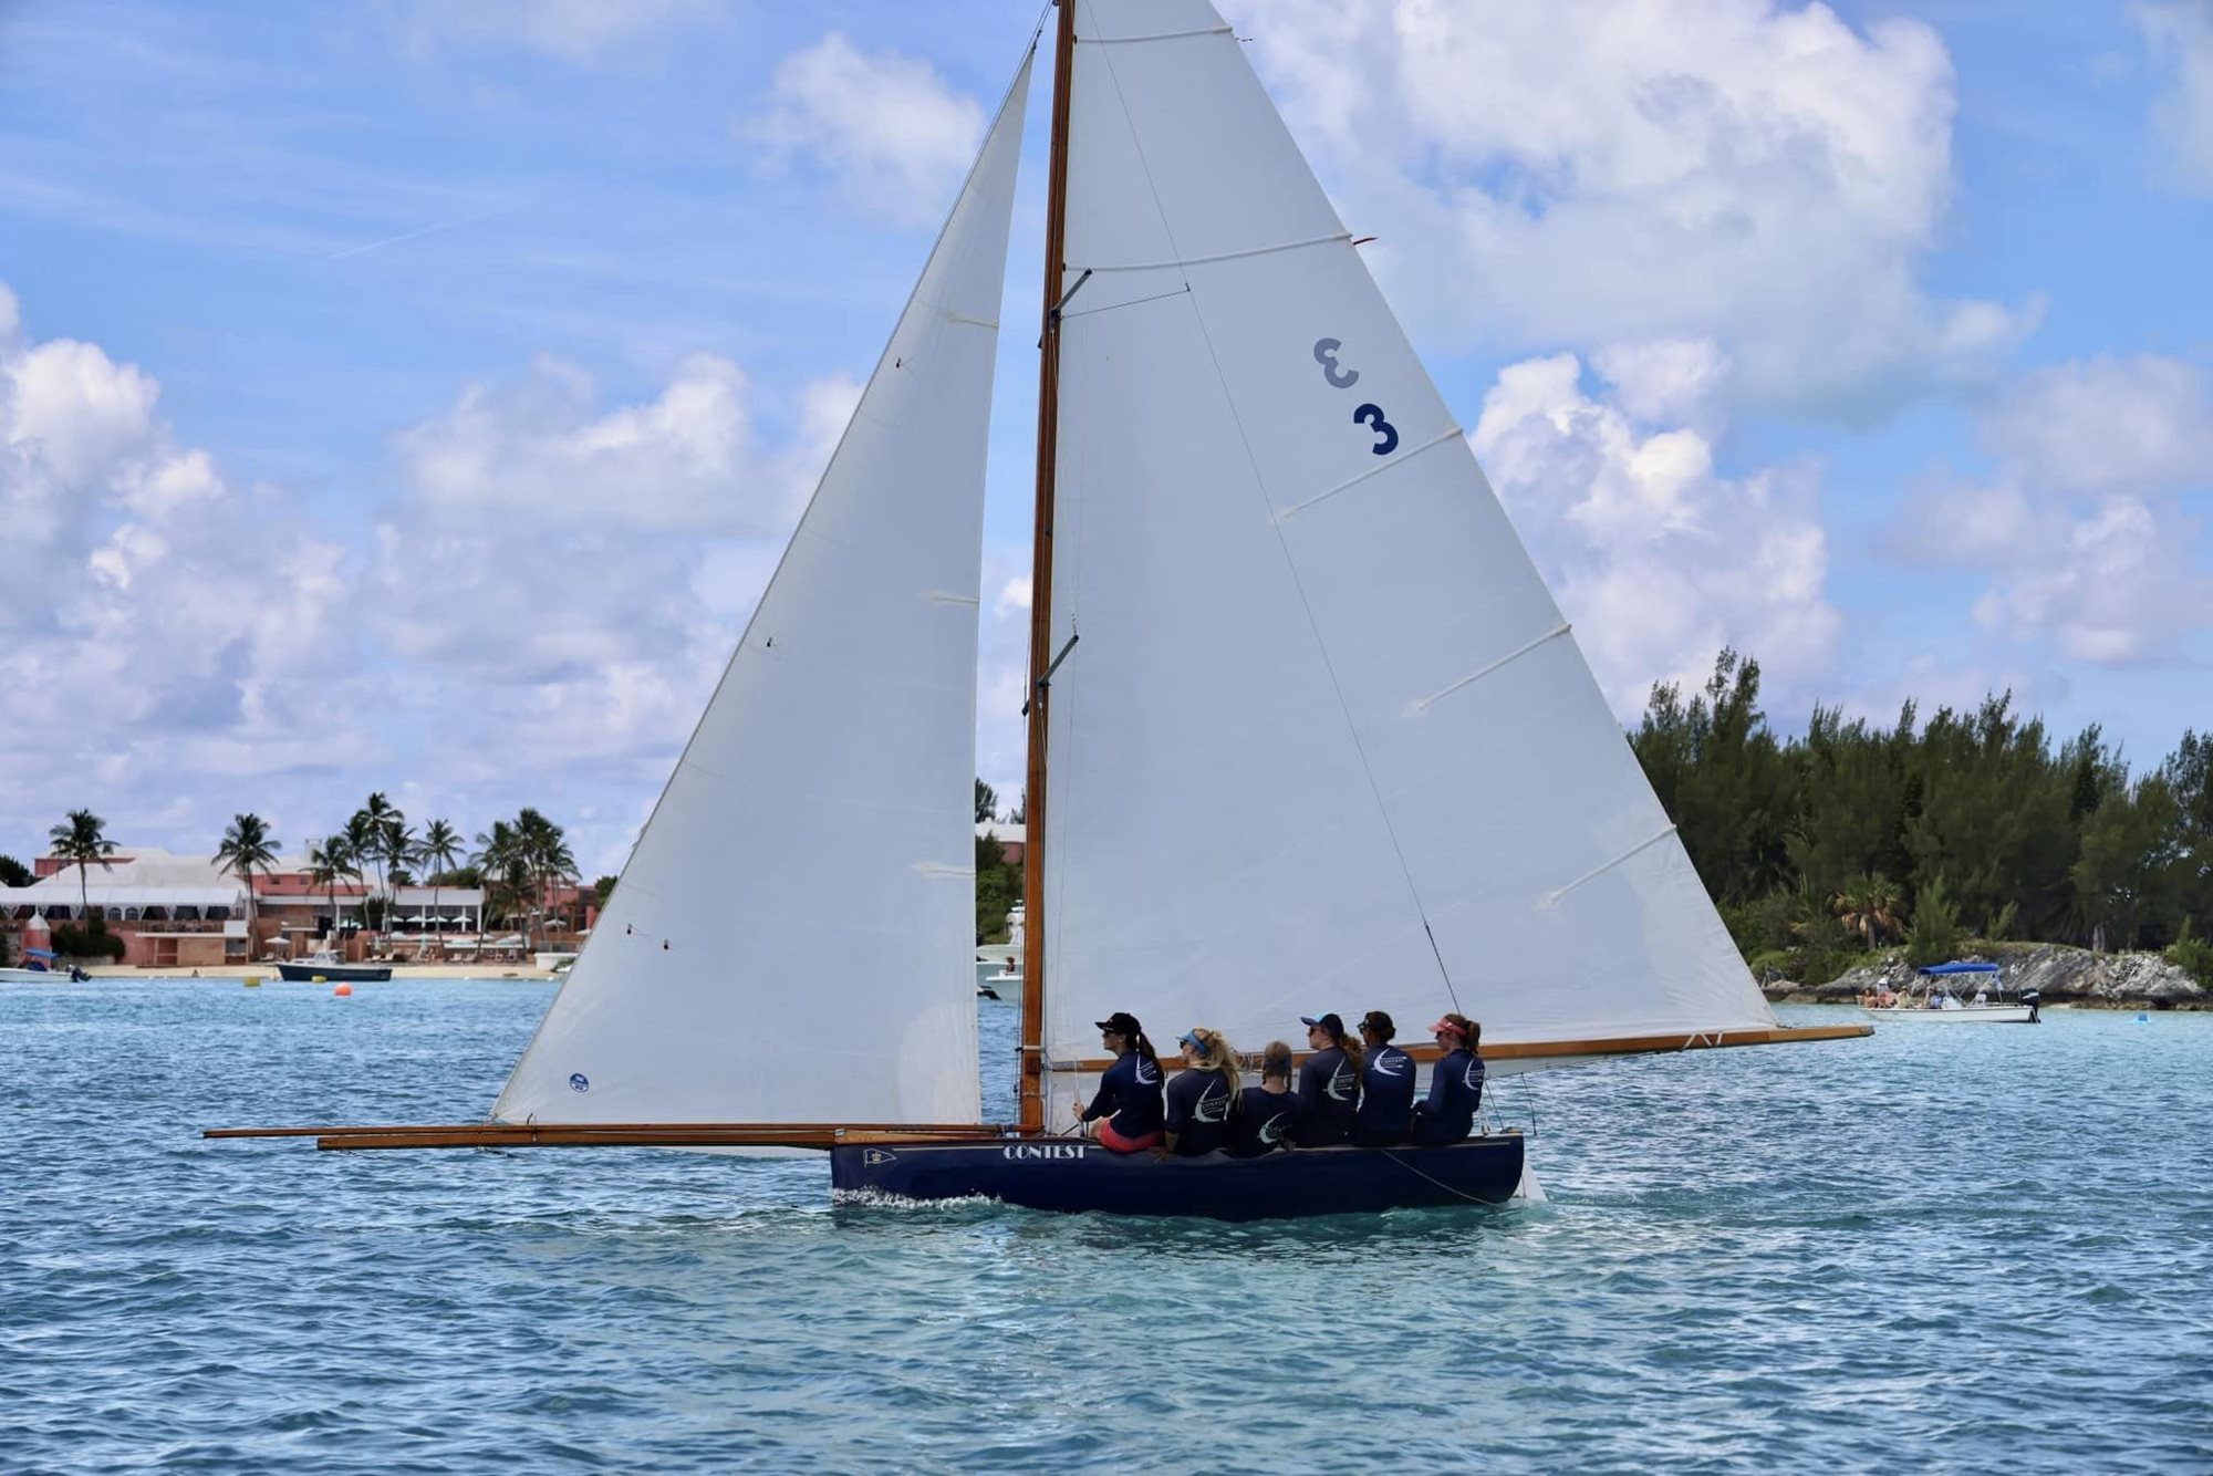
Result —
[[549, 998], [0, 985], [0, 1469], [2213, 1469], [2213, 1016], [1514, 1078], [1549, 1202], [1381, 1219], [195, 1137], [478, 1118]]

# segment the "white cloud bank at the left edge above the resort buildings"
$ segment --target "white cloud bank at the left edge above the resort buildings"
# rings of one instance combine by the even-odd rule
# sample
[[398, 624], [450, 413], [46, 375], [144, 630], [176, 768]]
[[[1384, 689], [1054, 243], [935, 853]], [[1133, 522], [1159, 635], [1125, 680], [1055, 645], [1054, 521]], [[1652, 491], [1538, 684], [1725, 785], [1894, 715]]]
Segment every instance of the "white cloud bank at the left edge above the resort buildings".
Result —
[[55, 777], [175, 801], [210, 766], [359, 748], [328, 679], [341, 549], [177, 445], [150, 374], [0, 310], [0, 524], [31, 575], [0, 580], [0, 817], [55, 805]]

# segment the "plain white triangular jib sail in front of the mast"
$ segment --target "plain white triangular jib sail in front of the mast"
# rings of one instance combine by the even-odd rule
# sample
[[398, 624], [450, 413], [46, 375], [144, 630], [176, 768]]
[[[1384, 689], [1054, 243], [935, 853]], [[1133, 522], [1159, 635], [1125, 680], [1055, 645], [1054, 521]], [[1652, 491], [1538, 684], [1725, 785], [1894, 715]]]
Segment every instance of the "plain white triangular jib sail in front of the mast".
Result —
[[498, 1120], [978, 1118], [976, 591], [1027, 95], [1025, 60]]

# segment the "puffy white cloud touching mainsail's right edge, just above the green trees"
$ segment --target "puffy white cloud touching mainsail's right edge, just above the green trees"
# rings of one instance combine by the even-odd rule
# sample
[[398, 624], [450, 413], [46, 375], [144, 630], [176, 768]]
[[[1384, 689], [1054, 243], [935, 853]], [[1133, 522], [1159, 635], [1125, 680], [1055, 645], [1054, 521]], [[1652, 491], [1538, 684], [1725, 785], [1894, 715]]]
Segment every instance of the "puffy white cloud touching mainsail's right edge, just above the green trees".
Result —
[[1629, 389], [1585, 394], [1573, 354], [1509, 365], [1469, 440], [1609, 701], [1627, 717], [1653, 682], [1697, 686], [1720, 646], [1755, 653], [1786, 695], [1808, 688], [1839, 631], [1815, 474], [1717, 476], [1704, 432], [1629, 409], [1702, 403], [1724, 374], [1711, 358], [1682, 345], [1602, 358]]

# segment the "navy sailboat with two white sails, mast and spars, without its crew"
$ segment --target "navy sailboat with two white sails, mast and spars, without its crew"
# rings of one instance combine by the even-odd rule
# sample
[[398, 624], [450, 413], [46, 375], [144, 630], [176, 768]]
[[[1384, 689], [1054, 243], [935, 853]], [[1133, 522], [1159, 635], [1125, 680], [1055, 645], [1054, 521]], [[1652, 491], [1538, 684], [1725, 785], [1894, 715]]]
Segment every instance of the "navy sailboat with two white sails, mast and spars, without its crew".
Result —
[[1525, 1142], [1113, 1155], [1064, 1135], [1095, 1020], [1257, 1051], [1452, 1009], [1494, 1073], [1868, 1033], [1775, 1020], [1213, 4], [1056, 31], [1016, 1120], [980, 1122], [969, 801], [1040, 38], [491, 1120], [219, 1133], [821, 1148], [863, 1197], [1248, 1219], [1498, 1202]]

